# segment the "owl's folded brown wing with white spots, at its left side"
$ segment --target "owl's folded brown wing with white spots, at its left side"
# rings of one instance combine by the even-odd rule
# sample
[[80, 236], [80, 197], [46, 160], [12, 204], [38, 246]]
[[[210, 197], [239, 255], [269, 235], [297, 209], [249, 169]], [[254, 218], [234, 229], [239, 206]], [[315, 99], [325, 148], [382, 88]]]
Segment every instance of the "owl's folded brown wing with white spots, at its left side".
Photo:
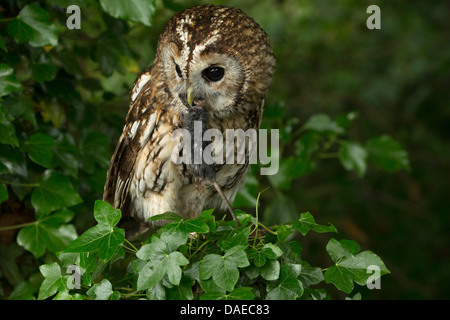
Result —
[[[130, 215], [129, 187], [133, 179], [135, 162], [142, 145], [151, 138], [157, 118], [157, 111], [146, 94], [150, 85], [151, 69], [152, 67], [142, 72], [133, 84], [130, 109], [111, 158], [103, 192], [103, 200], [120, 209], [125, 218]], [[144, 119], [150, 121], [145, 120], [144, 124]]]

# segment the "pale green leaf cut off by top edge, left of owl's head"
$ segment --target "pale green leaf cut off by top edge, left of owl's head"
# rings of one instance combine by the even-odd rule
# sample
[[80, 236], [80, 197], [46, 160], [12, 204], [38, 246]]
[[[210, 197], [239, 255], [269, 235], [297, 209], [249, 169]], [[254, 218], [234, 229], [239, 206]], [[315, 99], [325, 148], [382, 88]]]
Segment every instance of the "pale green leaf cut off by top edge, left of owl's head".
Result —
[[140, 22], [146, 26], [152, 25], [155, 13], [154, 0], [100, 0], [106, 13], [114, 18], [132, 22]]

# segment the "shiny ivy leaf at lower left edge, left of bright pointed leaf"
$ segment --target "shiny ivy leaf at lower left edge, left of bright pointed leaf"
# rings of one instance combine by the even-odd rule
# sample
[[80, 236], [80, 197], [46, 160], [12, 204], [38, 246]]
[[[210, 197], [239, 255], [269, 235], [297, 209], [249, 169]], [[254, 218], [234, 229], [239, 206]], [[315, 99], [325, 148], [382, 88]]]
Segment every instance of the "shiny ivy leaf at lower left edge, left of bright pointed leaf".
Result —
[[64, 250], [77, 238], [75, 227], [66, 224], [72, 218], [73, 213], [69, 210], [41, 217], [19, 231], [17, 243], [37, 258], [43, 256], [47, 248], [54, 253]]

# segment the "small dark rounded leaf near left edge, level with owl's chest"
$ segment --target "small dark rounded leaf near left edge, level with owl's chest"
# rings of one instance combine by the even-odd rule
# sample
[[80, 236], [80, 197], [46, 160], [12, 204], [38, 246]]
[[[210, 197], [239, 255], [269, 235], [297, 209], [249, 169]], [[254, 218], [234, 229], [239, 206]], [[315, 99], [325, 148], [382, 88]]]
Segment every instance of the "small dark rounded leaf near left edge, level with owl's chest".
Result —
[[25, 151], [33, 162], [45, 167], [53, 167], [53, 151], [55, 139], [44, 134], [36, 133], [25, 142]]

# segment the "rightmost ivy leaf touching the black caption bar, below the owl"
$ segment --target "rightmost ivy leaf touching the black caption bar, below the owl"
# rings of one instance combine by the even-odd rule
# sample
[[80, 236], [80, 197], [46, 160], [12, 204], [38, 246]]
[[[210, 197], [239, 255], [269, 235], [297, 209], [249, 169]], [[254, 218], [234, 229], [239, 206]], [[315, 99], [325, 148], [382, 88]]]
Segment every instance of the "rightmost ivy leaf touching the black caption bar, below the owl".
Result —
[[267, 300], [294, 300], [303, 295], [303, 285], [297, 277], [300, 275], [301, 265], [284, 264], [280, 270], [280, 278], [276, 283], [267, 286]]

